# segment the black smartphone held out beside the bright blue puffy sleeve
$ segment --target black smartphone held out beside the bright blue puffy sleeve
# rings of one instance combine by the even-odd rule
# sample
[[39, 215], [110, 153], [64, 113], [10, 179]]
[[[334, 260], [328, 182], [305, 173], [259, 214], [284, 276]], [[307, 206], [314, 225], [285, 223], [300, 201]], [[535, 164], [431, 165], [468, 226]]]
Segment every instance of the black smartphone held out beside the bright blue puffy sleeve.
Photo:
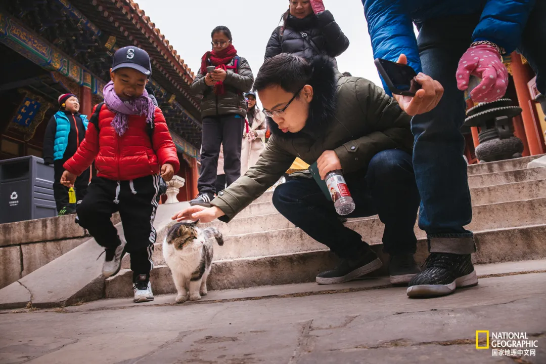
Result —
[[376, 58], [375, 64], [390, 92], [413, 97], [421, 88], [415, 79], [417, 73], [407, 64], [391, 62], [382, 58]]

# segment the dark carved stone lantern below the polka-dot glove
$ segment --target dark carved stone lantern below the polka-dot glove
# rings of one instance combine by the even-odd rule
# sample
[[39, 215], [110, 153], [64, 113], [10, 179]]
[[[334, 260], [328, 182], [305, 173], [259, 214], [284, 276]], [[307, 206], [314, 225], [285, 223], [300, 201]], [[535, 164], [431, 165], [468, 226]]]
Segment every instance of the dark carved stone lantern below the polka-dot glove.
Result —
[[466, 111], [464, 125], [480, 128], [476, 147], [476, 157], [480, 162], [521, 157], [523, 142], [514, 137], [512, 124], [512, 118], [519, 114], [521, 108], [514, 106], [509, 98], [480, 103]]

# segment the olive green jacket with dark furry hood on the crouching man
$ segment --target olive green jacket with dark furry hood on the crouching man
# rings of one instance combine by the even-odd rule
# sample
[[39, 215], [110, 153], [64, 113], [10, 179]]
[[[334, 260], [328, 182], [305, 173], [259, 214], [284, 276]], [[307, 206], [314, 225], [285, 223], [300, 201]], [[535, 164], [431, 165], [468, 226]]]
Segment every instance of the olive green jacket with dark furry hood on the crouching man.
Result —
[[220, 220], [230, 221], [261, 196], [296, 157], [311, 165], [334, 150], [343, 173], [351, 173], [366, 169], [380, 151], [411, 153], [411, 118], [383, 89], [364, 78], [342, 77], [324, 56], [314, 58], [313, 66], [314, 95], [304, 129], [285, 134], [268, 119], [272, 136], [257, 164], [211, 202], [225, 214]]

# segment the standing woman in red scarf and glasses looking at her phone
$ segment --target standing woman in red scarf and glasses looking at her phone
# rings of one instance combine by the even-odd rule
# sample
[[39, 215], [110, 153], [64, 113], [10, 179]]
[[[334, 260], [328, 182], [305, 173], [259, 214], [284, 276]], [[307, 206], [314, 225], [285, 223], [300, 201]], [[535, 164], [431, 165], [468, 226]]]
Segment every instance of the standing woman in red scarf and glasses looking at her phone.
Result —
[[237, 54], [232, 33], [219, 26], [211, 33], [212, 51], [201, 58], [201, 68], [192, 90], [201, 97], [203, 134], [199, 195], [190, 203], [210, 207], [216, 191], [220, 145], [223, 144], [224, 172], [229, 186], [241, 177], [241, 136], [246, 118], [245, 92], [254, 82], [245, 58]]

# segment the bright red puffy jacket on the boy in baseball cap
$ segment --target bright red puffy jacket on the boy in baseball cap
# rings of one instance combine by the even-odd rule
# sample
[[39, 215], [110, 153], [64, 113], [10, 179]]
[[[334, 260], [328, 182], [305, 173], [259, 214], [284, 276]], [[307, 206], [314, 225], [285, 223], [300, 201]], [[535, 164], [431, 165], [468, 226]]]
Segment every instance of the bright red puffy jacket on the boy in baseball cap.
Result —
[[154, 113], [152, 138], [145, 116], [129, 115], [129, 127], [121, 137], [111, 125], [114, 116], [104, 104], [98, 118], [99, 132], [89, 123], [84, 141], [76, 154], [64, 163], [64, 169], [80, 175], [94, 160], [98, 177], [116, 181], [157, 174], [165, 163], [173, 166], [175, 174], [179, 171], [176, 146], [161, 109], [156, 107]]

